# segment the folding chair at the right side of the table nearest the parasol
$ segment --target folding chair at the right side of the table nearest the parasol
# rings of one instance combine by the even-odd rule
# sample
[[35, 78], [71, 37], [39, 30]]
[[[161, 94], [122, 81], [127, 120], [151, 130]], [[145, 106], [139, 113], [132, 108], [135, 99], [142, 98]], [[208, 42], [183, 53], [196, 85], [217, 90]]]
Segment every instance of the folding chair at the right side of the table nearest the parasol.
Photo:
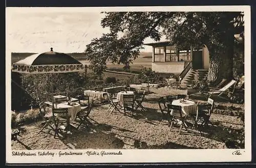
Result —
[[93, 99], [88, 104], [87, 107], [81, 108], [81, 110], [77, 113], [76, 119], [79, 119], [79, 125], [77, 126], [76, 129], [79, 129], [79, 127], [82, 126], [82, 125], [88, 127], [88, 125], [90, 123], [89, 120], [88, 120], [88, 116], [91, 113], [92, 106], [93, 106]]

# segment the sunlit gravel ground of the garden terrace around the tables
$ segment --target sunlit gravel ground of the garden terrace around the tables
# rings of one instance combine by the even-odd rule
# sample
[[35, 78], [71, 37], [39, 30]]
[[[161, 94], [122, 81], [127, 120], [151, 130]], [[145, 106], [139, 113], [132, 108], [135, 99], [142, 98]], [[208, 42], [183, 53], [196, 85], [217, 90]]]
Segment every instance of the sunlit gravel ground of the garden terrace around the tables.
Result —
[[[146, 112], [136, 110], [134, 115], [113, 111], [106, 113], [108, 105], [93, 107], [89, 128], [72, 130], [65, 139], [53, 138], [53, 131], [38, 134], [41, 123], [26, 125], [26, 131], [12, 141], [13, 150], [26, 149], [220, 149], [227, 138], [235, 137], [225, 128], [240, 129], [243, 123], [233, 116], [211, 115], [212, 126], [200, 134], [196, 129], [170, 130], [162, 119], [157, 99], [172, 94], [166, 88], [152, 89], [142, 103]], [[179, 92], [179, 91], [176, 91]], [[182, 91], [181, 91], [182, 92]], [[178, 93], [176, 93], [178, 94]], [[122, 112], [122, 111], [121, 111]]]

